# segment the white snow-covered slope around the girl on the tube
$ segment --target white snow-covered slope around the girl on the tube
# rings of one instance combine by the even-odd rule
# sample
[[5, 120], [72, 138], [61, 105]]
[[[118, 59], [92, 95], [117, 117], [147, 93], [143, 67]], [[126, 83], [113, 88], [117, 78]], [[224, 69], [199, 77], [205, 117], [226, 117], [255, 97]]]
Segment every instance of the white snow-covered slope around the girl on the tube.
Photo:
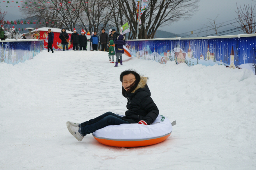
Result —
[[[0, 64], [0, 169], [255, 170], [256, 76], [224, 65], [188, 67], [106, 52], [39, 53]], [[67, 121], [111, 111], [124, 114], [119, 75], [135, 69], [160, 113], [177, 125], [162, 143], [116, 148], [87, 135], [77, 141]]]

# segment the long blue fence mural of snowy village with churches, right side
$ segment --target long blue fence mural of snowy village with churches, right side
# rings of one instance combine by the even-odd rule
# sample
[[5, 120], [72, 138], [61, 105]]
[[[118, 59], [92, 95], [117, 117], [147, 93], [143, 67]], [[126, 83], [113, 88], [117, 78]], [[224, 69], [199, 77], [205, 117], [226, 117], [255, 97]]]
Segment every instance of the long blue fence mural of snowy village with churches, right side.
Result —
[[256, 72], [256, 38], [126, 41], [133, 56], [161, 64], [225, 65]]

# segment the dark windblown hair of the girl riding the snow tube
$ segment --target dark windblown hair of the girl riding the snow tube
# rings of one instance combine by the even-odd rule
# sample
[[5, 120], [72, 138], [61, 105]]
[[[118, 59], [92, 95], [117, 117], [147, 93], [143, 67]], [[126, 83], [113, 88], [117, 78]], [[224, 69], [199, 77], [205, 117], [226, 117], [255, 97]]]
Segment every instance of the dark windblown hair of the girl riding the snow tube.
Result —
[[123, 71], [120, 74], [120, 81], [123, 82], [123, 77], [128, 75], [128, 74], [133, 74], [135, 76], [135, 81], [133, 82], [133, 84], [131, 84], [131, 86], [129, 86], [130, 89], [128, 91], [126, 91], [124, 89], [124, 87], [122, 86], [122, 94], [123, 94], [124, 97], [126, 96], [127, 93], [132, 93], [132, 91], [134, 91], [137, 88], [137, 86], [140, 82], [140, 75], [135, 70], [125, 70], [125, 71]]

